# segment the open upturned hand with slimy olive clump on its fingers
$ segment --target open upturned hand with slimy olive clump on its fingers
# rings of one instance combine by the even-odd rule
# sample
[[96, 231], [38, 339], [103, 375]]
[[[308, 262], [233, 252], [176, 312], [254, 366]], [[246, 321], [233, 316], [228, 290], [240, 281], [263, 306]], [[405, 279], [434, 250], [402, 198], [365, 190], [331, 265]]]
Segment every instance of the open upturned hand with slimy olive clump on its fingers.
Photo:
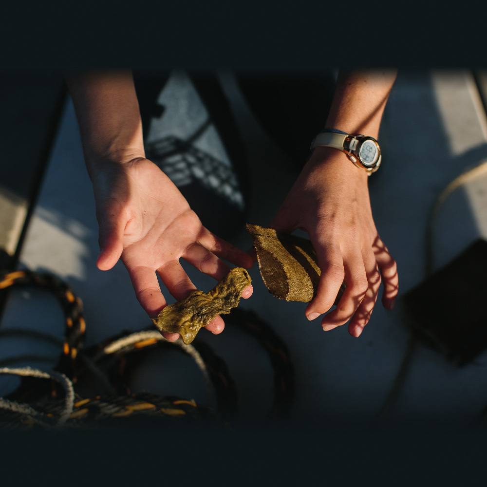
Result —
[[[148, 159], [123, 164], [98, 161], [91, 168], [101, 248], [96, 265], [108, 270], [121, 258], [135, 295], [151, 318], [167, 305], [156, 273], [176, 300], [196, 289], [180, 258], [216, 280], [230, 270], [221, 259], [252, 266], [248, 254], [201, 224], [177, 187]], [[242, 297], [251, 294], [249, 285]], [[206, 328], [218, 334], [224, 326], [217, 316]], [[177, 333], [163, 335], [169, 341], [179, 337]]]

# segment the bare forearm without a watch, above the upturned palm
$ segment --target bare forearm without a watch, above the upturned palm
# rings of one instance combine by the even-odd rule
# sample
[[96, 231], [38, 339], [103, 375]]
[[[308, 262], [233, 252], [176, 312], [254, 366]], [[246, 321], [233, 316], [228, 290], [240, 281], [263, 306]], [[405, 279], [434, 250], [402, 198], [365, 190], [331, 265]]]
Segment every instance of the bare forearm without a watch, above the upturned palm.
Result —
[[98, 161], [145, 157], [137, 95], [130, 72], [66, 75], [88, 172]]

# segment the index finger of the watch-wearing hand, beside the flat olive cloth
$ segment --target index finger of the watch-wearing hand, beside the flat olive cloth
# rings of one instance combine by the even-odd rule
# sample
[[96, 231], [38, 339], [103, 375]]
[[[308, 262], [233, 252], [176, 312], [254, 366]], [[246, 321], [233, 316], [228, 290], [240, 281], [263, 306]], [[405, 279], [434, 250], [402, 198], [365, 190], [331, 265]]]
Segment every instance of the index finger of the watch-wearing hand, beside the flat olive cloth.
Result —
[[310, 301], [304, 312], [310, 320], [326, 313], [333, 306], [345, 278], [343, 258], [339, 247], [334, 245], [323, 248], [317, 245], [315, 248], [321, 275], [316, 296]]

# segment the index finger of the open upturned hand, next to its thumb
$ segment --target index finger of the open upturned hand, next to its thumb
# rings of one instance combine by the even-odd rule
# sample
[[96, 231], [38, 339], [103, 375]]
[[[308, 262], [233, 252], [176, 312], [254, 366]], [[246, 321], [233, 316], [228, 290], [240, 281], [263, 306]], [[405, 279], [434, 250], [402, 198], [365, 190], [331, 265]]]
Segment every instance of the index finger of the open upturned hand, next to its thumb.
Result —
[[[159, 311], [167, 306], [168, 303], [161, 292], [154, 269], [145, 266], [131, 268], [126, 265], [126, 267], [129, 271], [137, 300], [150, 318], [157, 318]], [[176, 341], [179, 338], [178, 333], [162, 332], [162, 336], [168, 341]]]

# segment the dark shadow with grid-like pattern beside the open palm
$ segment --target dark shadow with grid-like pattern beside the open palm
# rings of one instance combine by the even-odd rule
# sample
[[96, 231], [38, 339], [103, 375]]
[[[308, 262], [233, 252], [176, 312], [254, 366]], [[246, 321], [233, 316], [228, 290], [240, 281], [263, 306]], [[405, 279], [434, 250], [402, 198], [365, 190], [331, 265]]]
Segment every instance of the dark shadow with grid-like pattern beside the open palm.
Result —
[[[169, 75], [167, 71], [134, 71], [145, 137], [151, 119], [164, 116], [165, 107], [158, 103], [158, 98]], [[246, 220], [248, 175], [244, 144], [216, 75], [207, 71], [188, 72], [188, 75], [208, 113], [206, 123], [187, 140], [173, 136], [153, 143], [146, 140], [146, 156], [174, 182], [203, 225], [231, 240]], [[231, 168], [194, 145], [210, 124], [214, 124], [221, 138]]]

